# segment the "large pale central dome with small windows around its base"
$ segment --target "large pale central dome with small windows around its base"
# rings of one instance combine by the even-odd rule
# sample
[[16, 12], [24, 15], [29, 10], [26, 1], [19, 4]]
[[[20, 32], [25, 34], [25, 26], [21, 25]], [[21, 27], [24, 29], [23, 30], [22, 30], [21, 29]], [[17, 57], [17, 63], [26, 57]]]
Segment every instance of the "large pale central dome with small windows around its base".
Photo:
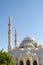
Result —
[[20, 44], [21, 47], [34, 47], [34, 45], [37, 45], [36, 40], [33, 37], [25, 37], [22, 41], [22, 43]]

